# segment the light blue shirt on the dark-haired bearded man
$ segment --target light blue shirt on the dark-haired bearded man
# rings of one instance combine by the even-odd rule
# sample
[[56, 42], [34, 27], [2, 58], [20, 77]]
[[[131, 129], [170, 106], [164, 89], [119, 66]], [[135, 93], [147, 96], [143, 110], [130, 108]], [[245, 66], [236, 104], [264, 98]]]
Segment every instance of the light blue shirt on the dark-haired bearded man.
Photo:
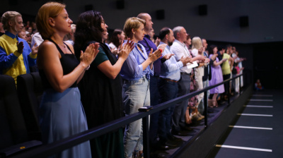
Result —
[[[160, 44], [164, 44], [164, 43], [160, 42]], [[162, 56], [165, 56], [166, 54], [173, 54], [170, 51], [170, 47], [168, 45], [165, 47]], [[166, 60], [161, 64], [160, 77], [168, 78], [171, 80], [180, 80], [180, 68], [182, 67], [183, 67], [182, 61], [177, 61], [174, 56], [171, 56], [170, 59]]]

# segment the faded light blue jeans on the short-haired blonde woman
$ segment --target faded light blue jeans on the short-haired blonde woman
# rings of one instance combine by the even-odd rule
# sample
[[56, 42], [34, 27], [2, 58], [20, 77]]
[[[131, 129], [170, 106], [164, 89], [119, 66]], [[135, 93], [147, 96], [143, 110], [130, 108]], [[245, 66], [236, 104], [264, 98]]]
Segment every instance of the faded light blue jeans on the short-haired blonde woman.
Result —
[[[149, 80], [125, 81], [123, 104], [126, 116], [138, 112], [140, 107], [150, 105]], [[127, 124], [124, 134], [125, 157], [132, 157], [134, 150], [143, 150], [141, 119]]]

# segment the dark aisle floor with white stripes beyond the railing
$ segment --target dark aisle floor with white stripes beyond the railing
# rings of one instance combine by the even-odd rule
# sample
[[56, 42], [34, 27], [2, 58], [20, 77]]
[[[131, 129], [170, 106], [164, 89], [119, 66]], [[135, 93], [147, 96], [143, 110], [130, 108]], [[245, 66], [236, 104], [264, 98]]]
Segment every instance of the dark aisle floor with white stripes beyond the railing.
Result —
[[283, 157], [282, 103], [282, 90], [254, 92], [207, 157]]

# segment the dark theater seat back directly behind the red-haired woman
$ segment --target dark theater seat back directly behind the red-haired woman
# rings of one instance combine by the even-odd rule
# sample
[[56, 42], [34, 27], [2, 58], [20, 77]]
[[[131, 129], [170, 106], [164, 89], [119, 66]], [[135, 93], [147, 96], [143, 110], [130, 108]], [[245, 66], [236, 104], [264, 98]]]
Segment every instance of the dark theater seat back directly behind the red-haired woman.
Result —
[[40, 75], [37, 72], [19, 75], [17, 80], [18, 98], [28, 130], [28, 137], [30, 140], [41, 140], [39, 106], [43, 87]]

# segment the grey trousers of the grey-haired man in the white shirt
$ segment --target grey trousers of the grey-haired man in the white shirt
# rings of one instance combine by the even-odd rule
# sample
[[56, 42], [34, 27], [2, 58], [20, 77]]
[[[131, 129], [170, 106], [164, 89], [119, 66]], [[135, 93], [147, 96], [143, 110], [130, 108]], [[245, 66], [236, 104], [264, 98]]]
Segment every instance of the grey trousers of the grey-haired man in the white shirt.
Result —
[[[178, 82], [178, 97], [190, 93], [190, 75], [181, 74]], [[180, 131], [181, 126], [185, 126], [185, 111], [187, 110], [187, 103], [189, 99], [179, 102], [175, 105], [172, 116], [172, 130], [175, 132]]]

